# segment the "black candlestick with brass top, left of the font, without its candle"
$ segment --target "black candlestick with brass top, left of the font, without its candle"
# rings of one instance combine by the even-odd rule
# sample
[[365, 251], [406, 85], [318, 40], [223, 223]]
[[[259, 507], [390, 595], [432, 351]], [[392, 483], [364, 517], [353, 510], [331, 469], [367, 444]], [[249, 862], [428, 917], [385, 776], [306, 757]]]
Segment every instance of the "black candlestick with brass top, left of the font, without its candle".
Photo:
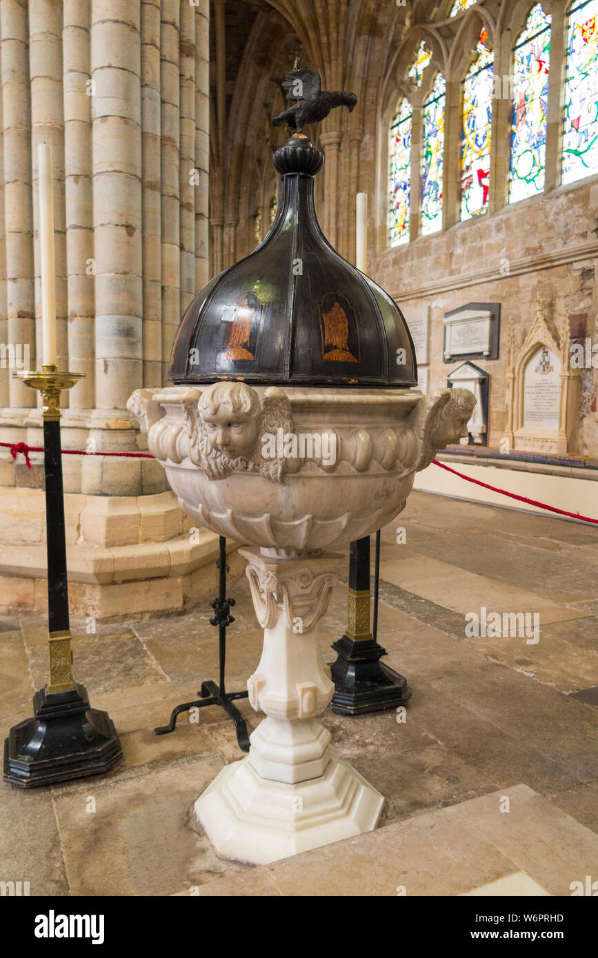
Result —
[[59, 396], [81, 376], [44, 366], [41, 373], [19, 378], [44, 399], [50, 682], [34, 695], [34, 718], [14, 725], [5, 739], [4, 780], [31, 788], [103, 772], [123, 750], [107, 712], [89, 707], [85, 688], [71, 670]]

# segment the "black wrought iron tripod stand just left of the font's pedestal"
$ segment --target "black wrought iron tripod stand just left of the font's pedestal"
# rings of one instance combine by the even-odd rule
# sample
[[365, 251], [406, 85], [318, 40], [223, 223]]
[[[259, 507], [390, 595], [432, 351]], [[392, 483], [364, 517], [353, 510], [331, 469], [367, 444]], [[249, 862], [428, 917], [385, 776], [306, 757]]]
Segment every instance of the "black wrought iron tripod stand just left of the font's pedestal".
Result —
[[217, 568], [219, 569], [219, 596], [218, 599], [215, 599], [212, 603], [215, 615], [210, 619], [211, 626], [219, 627], [219, 684], [217, 685], [216, 682], [212, 682], [210, 679], [208, 679], [207, 682], [202, 682], [201, 689], [197, 693], [197, 695], [201, 697], [195, 702], [183, 702], [182, 705], [177, 705], [176, 708], [173, 709], [168, 725], [159, 725], [157, 728], [154, 728], [154, 732], [156, 735], [166, 735], [167, 732], [173, 732], [176, 719], [181, 712], [189, 712], [190, 709], [202, 709], [207, 705], [219, 705], [235, 723], [239, 747], [243, 752], [248, 752], [249, 736], [247, 735], [247, 725], [239, 709], [233, 705], [233, 701], [238, 698], [246, 698], [249, 693], [247, 691], [226, 692], [224, 687], [226, 628], [235, 621], [233, 616], [230, 615], [230, 608], [231, 605], [235, 604], [235, 600], [226, 598], [226, 573], [229, 571], [229, 568], [226, 564], [226, 539], [224, 536], [219, 537], [219, 547], [220, 556], [216, 561]]

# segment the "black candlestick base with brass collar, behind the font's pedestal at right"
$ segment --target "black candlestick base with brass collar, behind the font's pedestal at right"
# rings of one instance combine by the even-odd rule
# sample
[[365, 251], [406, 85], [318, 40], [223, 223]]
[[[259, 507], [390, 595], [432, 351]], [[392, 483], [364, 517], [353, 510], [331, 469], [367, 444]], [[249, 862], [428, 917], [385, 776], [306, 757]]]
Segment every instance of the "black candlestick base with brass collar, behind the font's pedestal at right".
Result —
[[[375, 619], [378, 621], [377, 615]], [[369, 536], [350, 545], [347, 631], [333, 649], [338, 653], [331, 667], [336, 686], [333, 712], [349, 716], [380, 712], [398, 708], [410, 698], [411, 689], [403, 675], [380, 662], [386, 650], [370, 630]]]

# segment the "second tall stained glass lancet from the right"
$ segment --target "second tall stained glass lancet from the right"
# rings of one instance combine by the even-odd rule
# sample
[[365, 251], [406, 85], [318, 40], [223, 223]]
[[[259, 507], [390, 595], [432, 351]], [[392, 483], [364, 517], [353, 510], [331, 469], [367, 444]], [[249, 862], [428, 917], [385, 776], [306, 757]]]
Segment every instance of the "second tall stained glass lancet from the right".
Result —
[[536, 4], [515, 46], [510, 203], [544, 188], [551, 21]]

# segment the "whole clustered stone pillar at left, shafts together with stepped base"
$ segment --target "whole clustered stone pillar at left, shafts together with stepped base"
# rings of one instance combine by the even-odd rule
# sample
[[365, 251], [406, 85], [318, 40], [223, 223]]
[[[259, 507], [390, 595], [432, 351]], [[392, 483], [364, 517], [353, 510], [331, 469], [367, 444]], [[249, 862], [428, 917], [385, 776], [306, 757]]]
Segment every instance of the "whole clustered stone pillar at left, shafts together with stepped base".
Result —
[[[127, 399], [166, 380], [208, 280], [209, 0], [0, 2], [0, 441], [43, 445], [37, 145], [51, 145], [73, 615], [180, 610], [212, 589], [194, 529]], [[45, 611], [43, 453], [0, 449], [0, 610]], [[45, 550], [43, 550], [45, 555]]]

